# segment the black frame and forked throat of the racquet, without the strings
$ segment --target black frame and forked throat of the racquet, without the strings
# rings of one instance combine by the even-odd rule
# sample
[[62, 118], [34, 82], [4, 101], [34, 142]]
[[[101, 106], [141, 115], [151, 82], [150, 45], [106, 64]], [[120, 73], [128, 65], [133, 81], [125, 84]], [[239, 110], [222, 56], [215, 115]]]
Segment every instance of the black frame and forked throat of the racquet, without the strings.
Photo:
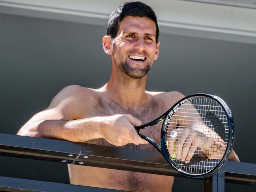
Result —
[[[206, 172], [206, 173], [200, 173], [200, 174], [187, 173], [187, 172], [181, 170], [180, 168], [178, 168], [178, 166], [176, 166], [175, 162], [172, 159], [170, 159], [170, 155], [168, 154], [168, 150], [166, 149], [166, 133], [165, 133], [165, 131], [166, 131], [167, 125], [169, 123], [169, 122], [167, 122], [168, 119], [171, 119], [172, 114], [174, 114], [174, 112], [177, 110], [177, 108], [179, 108], [179, 106], [181, 106], [183, 103], [188, 101], [190, 98], [194, 98], [194, 97], [209, 97], [209, 98], [214, 99], [215, 101], [217, 101], [220, 104], [220, 106], [222, 106], [222, 108], [224, 109], [224, 112], [225, 112], [226, 117], [228, 119], [228, 130], [229, 130], [229, 137], [228, 137], [227, 147], [226, 147], [226, 150], [224, 152], [224, 155], [223, 155], [222, 159], [215, 166], [215, 168], [213, 168], [211, 171]], [[159, 144], [157, 144], [153, 139], [151, 139], [149, 137], [146, 137], [146, 136], [139, 133], [140, 129], [145, 129], [145, 128], [151, 127], [151, 126], [153, 126], [157, 123], [160, 123], [162, 121], [164, 121], [164, 122], [163, 122], [162, 129], [161, 129], [161, 146]], [[189, 95], [187, 97], [184, 97], [183, 99], [179, 100], [168, 111], [166, 111], [163, 115], [161, 115], [157, 119], [155, 119], [153, 121], [150, 121], [149, 123], [146, 123], [144, 125], [136, 126], [135, 129], [138, 132], [138, 134], [140, 135], [140, 137], [145, 139], [146, 141], [148, 141], [151, 145], [153, 145], [164, 156], [164, 158], [167, 160], [167, 162], [176, 171], [178, 171], [179, 173], [181, 173], [183, 175], [186, 175], [187, 177], [193, 177], [193, 178], [209, 177], [209, 176], [213, 175], [214, 173], [216, 173], [224, 165], [224, 163], [228, 160], [228, 158], [230, 157], [230, 154], [231, 154], [233, 146], [234, 146], [234, 139], [235, 139], [234, 118], [233, 118], [233, 115], [231, 113], [230, 108], [219, 97], [217, 97], [215, 95], [206, 94], [206, 93], [196, 93], [196, 94], [192, 94], [192, 95]]]

